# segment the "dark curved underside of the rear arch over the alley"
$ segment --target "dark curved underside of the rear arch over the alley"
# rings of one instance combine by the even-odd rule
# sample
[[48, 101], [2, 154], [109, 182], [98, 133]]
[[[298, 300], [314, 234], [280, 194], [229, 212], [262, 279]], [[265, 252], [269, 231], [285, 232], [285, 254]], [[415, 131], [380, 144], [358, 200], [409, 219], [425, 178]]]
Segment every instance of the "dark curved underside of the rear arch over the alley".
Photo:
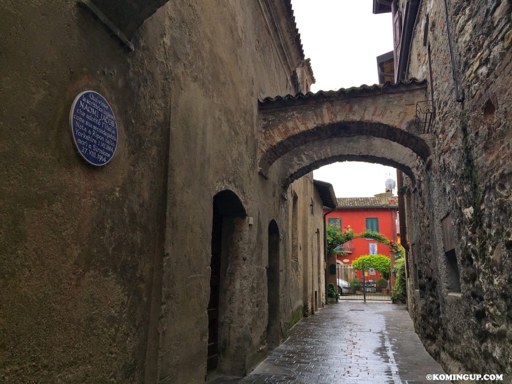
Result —
[[388, 165], [393, 168], [401, 170], [401, 172], [403, 172], [404, 174], [406, 174], [407, 176], [409, 176], [411, 178], [411, 182], [413, 184], [416, 184], [416, 176], [415, 176], [413, 170], [409, 166], [403, 165], [394, 160], [390, 160], [390, 159], [387, 159], [384, 157], [371, 156], [371, 155], [338, 155], [338, 156], [333, 156], [333, 157], [317, 160], [313, 163], [310, 163], [308, 165], [305, 165], [305, 166], [295, 170], [295, 172], [284, 177], [284, 180], [282, 182], [283, 189], [288, 188], [288, 186], [293, 181], [303, 177], [304, 175], [307, 175], [312, 170], [318, 169], [319, 167], [322, 167], [324, 165], [328, 165], [328, 164], [332, 164], [332, 163], [336, 163], [336, 162], [343, 162], [343, 161], [364, 161], [367, 163]]

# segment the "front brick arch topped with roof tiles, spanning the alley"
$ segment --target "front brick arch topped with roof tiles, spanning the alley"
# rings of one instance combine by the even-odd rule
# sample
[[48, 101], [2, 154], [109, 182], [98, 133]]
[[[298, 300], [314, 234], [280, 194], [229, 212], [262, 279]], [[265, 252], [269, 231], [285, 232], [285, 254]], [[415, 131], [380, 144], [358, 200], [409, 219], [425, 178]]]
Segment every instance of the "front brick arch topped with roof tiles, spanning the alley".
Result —
[[[355, 136], [396, 143], [426, 161], [431, 154], [425, 141], [429, 139], [427, 135], [418, 134], [414, 126], [416, 102], [425, 99], [426, 83], [415, 79], [381, 86], [267, 98], [260, 102], [260, 173], [267, 177], [272, 164], [288, 156], [295, 148], [318, 140]], [[374, 153], [358, 155], [386, 158]], [[389, 160], [411, 167], [408, 160]]]

